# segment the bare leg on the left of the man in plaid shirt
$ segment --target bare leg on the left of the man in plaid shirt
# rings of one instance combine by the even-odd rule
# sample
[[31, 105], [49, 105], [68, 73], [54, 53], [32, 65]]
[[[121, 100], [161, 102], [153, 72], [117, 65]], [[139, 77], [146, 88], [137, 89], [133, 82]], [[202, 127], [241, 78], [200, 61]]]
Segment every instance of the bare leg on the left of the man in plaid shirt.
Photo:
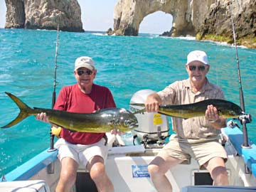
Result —
[[171, 183], [166, 177], [166, 172], [173, 166], [180, 164], [182, 160], [176, 159], [171, 156], [156, 156], [153, 161], [148, 166], [149, 174], [151, 181], [154, 183], [154, 186], [157, 191], [172, 191]]

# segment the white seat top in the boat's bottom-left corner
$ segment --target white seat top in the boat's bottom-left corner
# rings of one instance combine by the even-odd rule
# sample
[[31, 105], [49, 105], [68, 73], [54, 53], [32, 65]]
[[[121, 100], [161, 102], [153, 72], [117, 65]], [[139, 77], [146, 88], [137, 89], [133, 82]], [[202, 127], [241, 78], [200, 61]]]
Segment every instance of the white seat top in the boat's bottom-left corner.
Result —
[[50, 192], [46, 181], [29, 180], [29, 181], [6, 181], [0, 182], [1, 192]]

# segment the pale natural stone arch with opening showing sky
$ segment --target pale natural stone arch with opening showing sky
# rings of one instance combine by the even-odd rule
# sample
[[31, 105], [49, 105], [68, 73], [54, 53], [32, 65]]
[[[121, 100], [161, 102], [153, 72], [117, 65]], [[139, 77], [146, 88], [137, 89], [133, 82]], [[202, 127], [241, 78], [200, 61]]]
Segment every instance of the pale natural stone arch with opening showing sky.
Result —
[[137, 36], [143, 18], [156, 11], [173, 16], [172, 36], [196, 35], [215, 0], [119, 0], [114, 7], [114, 33]]

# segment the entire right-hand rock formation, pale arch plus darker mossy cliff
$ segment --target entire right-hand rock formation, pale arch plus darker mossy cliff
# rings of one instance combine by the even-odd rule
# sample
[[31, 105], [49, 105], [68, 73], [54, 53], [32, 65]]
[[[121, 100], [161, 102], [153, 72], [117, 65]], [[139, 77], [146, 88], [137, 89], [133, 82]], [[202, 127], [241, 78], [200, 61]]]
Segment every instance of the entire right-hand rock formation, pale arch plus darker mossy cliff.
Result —
[[238, 45], [256, 48], [255, 6], [256, 0], [119, 0], [110, 33], [137, 36], [144, 17], [164, 11], [173, 16], [171, 36], [232, 43], [232, 13]]

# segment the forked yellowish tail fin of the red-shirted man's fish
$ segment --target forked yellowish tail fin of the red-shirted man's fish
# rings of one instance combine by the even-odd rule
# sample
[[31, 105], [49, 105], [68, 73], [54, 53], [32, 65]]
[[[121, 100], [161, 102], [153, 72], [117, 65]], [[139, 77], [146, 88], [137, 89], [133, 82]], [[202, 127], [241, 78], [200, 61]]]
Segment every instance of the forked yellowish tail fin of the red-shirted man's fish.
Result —
[[5, 93], [9, 97], [11, 97], [11, 100], [13, 100], [16, 103], [16, 105], [21, 111], [13, 121], [9, 122], [9, 124], [6, 124], [1, 128], [8, 128], [8, 127], [14, 126], [15, 124], [18, 124], [18, 122], [21, 122], [23, 119], [26, 119], [26, 117], [28, 117], [32, 111], [32, 109], [28, 107], [28, 105], [23, 103], [20, 99], [18, 99], [18, 97], [16, 97], [15, 95], [12, 95], [10, 92], [5, 92]]

